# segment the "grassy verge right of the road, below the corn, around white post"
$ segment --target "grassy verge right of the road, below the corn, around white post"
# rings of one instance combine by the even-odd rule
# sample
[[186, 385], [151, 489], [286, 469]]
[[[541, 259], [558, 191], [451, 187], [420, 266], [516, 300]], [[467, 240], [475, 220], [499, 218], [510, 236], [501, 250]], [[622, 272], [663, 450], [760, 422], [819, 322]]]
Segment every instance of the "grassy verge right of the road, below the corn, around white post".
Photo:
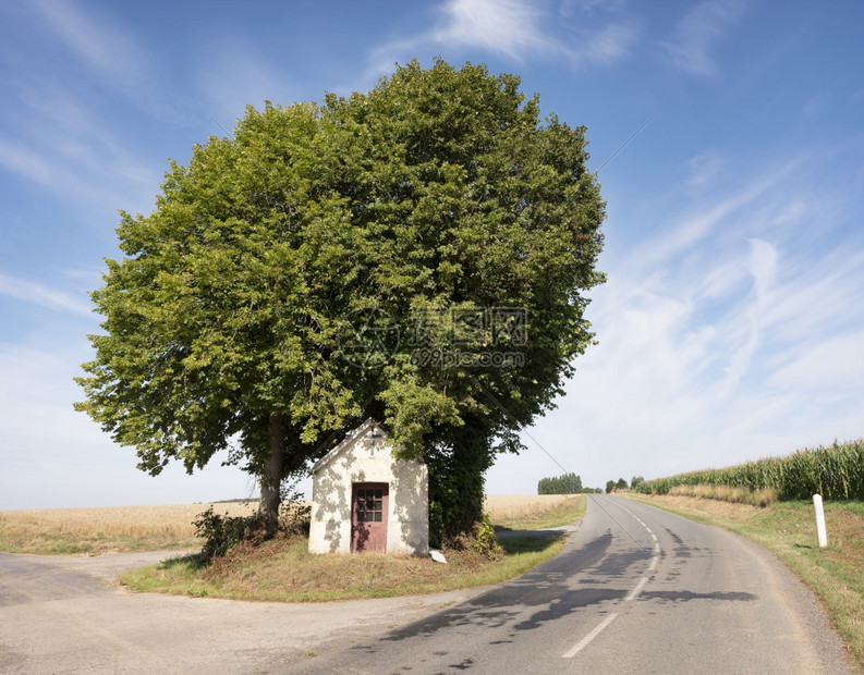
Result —
[[819, 549], [810, 502], [758, 508], [686, 496], [629, 496], [723, 527], [771, 551], [822, 599], [864, 671], [864, 502], [825, 503], [828, 547]]

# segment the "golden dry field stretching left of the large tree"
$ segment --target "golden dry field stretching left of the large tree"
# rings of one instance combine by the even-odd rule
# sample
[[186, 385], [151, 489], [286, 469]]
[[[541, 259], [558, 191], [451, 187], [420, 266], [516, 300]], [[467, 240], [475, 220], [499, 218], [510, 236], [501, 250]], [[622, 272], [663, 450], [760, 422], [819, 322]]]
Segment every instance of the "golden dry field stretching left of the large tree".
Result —
[[[232, 516], [257, 504], [214, 505]], [[101, 506], [0, 512], [0, 551], [14, 553], [120, 553], [200, 545], [192, 521], [206, 504]]]

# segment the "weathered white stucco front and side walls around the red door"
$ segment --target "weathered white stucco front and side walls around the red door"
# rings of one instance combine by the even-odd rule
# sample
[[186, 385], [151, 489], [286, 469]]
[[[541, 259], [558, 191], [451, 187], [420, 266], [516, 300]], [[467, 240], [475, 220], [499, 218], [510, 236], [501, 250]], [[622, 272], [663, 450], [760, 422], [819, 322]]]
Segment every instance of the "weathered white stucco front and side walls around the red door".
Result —
[[396, 459], [387, 434], [373, 420], [358, 427], [313, 467], [309, 551], [351, 552], [351, 490], [357, 482], [390, 487], [387, 552], [429, 551], [426, 465]]

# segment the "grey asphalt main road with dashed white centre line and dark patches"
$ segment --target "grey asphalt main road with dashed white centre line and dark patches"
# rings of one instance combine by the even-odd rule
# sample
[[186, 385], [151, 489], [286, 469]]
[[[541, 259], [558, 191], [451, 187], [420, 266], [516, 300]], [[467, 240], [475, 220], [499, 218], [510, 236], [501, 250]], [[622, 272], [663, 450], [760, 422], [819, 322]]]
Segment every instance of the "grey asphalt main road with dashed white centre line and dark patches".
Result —
[[762, 549], [653, 506], [597, 495], [549, 563], [290, 672], [854, 671], [814, 597]]

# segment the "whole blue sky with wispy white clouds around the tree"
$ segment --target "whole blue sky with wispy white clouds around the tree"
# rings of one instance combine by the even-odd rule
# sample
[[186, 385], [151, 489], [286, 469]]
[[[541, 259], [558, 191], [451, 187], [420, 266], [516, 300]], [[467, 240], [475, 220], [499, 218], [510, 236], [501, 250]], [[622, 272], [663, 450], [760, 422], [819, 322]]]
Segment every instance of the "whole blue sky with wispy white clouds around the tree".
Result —
[[608, 201], [598, 344], [488, 492], [534, 492], [547, 453], [603, 486], [864, 437], [862, 25], [796, 0], [0, 4], [0, 508], [255, 492], [218, 462], [150, 478], [72, 409], [117, 210], [247, 103], [436, 56], [586, 125]]

